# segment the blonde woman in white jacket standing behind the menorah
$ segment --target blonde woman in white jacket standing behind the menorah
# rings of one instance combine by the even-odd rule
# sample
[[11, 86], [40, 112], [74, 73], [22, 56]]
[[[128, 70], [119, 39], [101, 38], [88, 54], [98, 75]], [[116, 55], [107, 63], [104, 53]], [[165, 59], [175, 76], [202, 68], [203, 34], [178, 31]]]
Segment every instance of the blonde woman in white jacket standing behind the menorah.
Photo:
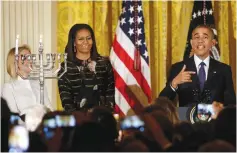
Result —
[[[28, 60], [22, 61], [22, 56], [27, 58], [31, 54], [29, 46], [23, 45], [18, 47], [20, 55], [18, 67], [15, 67], [15, 48], [10, 49], [7, 55], [7, 73], [10, 75], [10, 82], [5, 83], [2, 89], [2, 97], [6, 99], [11, 112], [25, 115], [31, 108], [40, 105], [40, 86], [38, 80], [27, 80], [22, 77], [27, 77], [31, 72], [31, 62]], [[45, 88], [46, 89], [46, 88]], [[48, 93], [45, 90], [44, 103], [49, 110], [53, 110], [48, 98]]]

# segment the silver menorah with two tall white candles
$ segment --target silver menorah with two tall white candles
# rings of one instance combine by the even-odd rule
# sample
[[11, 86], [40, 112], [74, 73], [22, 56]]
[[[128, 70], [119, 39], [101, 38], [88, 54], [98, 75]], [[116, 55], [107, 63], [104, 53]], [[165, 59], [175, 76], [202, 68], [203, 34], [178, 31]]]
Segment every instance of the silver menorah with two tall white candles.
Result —
[[[44, 104], [44, 80], [45, 79], [59, 79], [64, 73], [67, 72], [67, 53], [43, 53], [42, 35], [40, 35], [38, 54], [19, 55], [18, 54], [18, 39], [16, 37], [15, 48], [15, 69], [16, 74], [24, 80], [39, 80], [40, 84], [40, 104]], [[46, 57], [46, 60], [44, 58]], [[18, 69], [19, 58], [22, 64], [26, 64], [26, 67], [30, 69], [30, 73], [25, 76]], [[61, 62], [64, 60], [64, 71], [58, 76], [58, 72], [61, 70]], [[27, 61], [27, 62], [26, 62]], [[56, 69], [56, 65], [58, 65]], [[55, 70], [56, 69], [56, 70]]]

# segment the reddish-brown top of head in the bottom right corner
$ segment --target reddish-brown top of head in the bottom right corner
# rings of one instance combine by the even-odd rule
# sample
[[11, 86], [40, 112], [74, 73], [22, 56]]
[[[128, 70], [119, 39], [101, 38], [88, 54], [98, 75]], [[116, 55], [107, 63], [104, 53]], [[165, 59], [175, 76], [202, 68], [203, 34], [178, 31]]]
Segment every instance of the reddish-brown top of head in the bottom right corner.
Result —
[[236, 152], [236, 149], [224, 140], [213, 140], [200, 146], [198, 152]]

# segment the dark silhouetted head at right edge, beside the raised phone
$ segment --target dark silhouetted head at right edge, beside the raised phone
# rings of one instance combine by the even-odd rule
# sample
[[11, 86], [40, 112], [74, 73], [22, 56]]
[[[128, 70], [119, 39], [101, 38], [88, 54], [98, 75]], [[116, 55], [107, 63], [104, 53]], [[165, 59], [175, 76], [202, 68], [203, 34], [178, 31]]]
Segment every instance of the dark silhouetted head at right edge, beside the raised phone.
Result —
[[215, 121], [215, 137], [236, 147], [236, 107], [226, 107]]

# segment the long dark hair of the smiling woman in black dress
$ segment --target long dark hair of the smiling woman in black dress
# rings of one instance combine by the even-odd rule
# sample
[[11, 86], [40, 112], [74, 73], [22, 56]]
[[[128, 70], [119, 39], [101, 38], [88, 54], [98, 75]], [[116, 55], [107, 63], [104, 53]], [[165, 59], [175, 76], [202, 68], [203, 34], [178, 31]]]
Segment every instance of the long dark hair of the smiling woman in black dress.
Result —
[[95, 35], [94, 35], [93, 29], [88, 24], [74, 24], [69, 31], [68, 42], [65, 47], [65, 53], [68, 54], [69, 61], [74, 61], [76, 58], [76, 53], [74, 52], [74, 41], [75, 41], [77, 32], [82, 29], [87, 29], [91, 33], [91, 37], [93, 41], [92, 49], [91, 49], [91, 59], [96, 60], [97, 56], [99, 56], [99, 53], [97, 52], [97, 48], [96, 48], [96, 41], [95, 41]]

